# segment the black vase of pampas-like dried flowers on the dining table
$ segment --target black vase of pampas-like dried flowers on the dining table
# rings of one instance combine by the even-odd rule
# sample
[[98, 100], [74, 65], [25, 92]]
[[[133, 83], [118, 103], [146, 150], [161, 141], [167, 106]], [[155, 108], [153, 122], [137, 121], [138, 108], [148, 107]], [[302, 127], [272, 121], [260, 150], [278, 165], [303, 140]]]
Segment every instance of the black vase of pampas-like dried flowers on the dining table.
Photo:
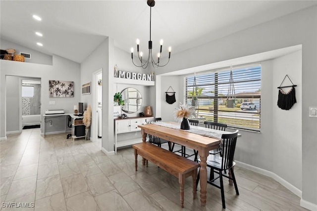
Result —
[[190, 124], [188, 118], [195, 113], [194, 106], [182, 105], [180, 104], [179, 108], [176, 108], [174, 112], [174, 118], [176, 120], [182, 120], [180, 123], [180, 129], [182, 130], [189, 130]]

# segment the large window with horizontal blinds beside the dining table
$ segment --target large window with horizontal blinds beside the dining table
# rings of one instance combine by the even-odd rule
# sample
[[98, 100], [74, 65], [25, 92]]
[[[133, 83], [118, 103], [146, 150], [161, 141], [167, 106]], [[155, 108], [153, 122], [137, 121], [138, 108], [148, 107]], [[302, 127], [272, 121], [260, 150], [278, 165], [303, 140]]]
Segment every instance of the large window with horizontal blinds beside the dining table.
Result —
[[230, 69], [196, 75], [196, 86], [194, 78], [184, 78], [185, 103], [196, 102], [193, 118], [260, 131], [260, 64], [233, 68], [232, 75]]

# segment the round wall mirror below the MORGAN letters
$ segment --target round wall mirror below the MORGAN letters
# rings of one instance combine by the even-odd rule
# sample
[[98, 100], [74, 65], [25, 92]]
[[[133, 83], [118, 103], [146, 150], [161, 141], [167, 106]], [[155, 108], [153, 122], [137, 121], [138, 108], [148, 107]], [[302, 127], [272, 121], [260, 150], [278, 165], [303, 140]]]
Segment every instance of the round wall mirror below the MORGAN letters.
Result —
[[124, 106], [122, 110], [126, 113], [137, 112], [142, 106], [142, 95], [134, 88], [126, 88], [121, 92], [122, 100], [124, 100]]

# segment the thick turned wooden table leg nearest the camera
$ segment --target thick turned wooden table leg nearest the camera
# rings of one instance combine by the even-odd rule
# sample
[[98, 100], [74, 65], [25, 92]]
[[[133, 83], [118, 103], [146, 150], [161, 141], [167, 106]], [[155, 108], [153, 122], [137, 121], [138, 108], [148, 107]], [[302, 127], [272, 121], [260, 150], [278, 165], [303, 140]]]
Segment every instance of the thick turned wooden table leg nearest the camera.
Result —
[[200, 202], [201, 206], [206, 206], [206, 194], [207, 194], [207, 156], [208, 151], [205, 152], [205, 149], [199, 150], [199, 156], [201, 159], [200, 169], [199, 169], [199, 181], [200, 181]]

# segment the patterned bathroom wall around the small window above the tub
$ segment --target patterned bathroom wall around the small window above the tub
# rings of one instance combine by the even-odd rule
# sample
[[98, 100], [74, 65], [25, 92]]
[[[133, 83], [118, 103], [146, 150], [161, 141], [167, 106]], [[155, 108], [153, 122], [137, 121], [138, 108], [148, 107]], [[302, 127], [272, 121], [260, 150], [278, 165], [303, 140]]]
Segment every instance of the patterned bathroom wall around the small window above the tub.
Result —
[[[22, 85], [31, 84], [23, 83]], [[41, 114], [41, 84], [32, 84], [31, 86], [34, 86], [34, 97], [22, 98], [22, 115]]]

